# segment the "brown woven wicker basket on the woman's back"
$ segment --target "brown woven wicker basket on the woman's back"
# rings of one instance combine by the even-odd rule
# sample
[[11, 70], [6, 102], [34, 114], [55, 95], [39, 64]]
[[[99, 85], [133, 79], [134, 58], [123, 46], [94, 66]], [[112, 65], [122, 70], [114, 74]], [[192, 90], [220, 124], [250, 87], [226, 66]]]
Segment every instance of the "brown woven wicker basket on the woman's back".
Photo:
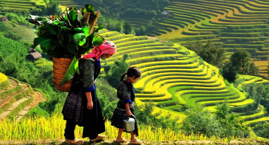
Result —
[[56, 89], [60, 92], [69, 92], [72, 86], [73, 79], [67, 82], [67, 84], [60, 87], [62, 78], [64, 77], [71, 63], [72, 59], [68, 58], [57, 59], [53, 57], [53, 81]]

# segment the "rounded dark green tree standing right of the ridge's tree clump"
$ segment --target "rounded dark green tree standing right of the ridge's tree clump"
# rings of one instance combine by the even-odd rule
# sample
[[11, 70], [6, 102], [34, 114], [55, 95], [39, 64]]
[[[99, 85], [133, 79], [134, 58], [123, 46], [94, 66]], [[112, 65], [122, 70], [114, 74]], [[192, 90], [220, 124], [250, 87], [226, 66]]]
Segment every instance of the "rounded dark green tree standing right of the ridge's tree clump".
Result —
[[230, 62], [239, 70], [239, 74], [247, 75], [249, 73], [249, 66], [250, 66], [250, 53], [246, 50], [237, 50], [234, 52], [230, 57]]

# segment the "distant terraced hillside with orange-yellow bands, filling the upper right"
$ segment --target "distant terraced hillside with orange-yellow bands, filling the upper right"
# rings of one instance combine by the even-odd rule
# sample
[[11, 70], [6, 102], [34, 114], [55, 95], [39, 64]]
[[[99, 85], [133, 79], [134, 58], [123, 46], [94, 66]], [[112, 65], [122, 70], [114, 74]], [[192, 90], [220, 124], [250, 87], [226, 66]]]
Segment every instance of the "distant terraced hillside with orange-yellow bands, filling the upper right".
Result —
[[[165, 10], [171, 12], [173, 18], [157, 20], [153, 23], [155, 31], [149, 36], [181, 45], [188, 41], [200, 40], [205, 43], [212, 40], [216, 45], [223, 45], [227, 58], [235, 50], [245, 49], [251, 53], [253, 61], [268, 64], [269, 1], [170, 0], [170, 2], [171, 5]], [[261, 75], [267, 76], [263, 65], [259, 68]]]

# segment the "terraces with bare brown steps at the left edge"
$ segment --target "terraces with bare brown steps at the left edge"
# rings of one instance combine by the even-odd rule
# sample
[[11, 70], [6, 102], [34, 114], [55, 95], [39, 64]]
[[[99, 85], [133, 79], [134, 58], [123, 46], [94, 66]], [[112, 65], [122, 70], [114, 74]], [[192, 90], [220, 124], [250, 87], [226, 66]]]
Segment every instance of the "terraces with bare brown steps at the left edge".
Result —
[[30, 109], [45, 100], [43, 93], [29, 84], [0, 73], [0, 119], [15, 117], [19, 121]]

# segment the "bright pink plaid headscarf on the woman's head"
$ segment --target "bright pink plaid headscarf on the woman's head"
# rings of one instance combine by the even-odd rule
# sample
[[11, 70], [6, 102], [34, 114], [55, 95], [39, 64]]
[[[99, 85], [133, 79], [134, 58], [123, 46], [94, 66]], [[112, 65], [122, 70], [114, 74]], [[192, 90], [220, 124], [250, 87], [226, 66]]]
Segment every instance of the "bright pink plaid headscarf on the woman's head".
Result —
[[105, 40], [102, 45], [93, 47], [92, 51], [84, 55], [84, 59], [96, 57], [96, 59], [98, 60], [102, 54], [115, 54], [115, 53], [116, 53], [116, 45], [111, 41]]

